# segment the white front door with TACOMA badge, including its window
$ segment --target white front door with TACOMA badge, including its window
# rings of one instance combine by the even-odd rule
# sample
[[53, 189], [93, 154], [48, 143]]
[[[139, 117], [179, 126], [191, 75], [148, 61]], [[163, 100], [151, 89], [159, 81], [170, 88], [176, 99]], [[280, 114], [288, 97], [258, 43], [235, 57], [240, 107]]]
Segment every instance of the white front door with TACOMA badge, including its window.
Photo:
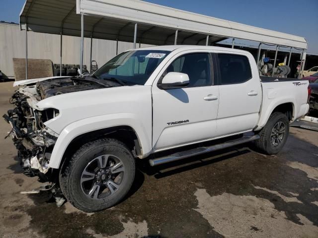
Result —
[[[161, 90], [153, 85], [153, 147], [155, 151], [191, 144], [216, 135], [219, 87], [213, 85], [209, 53], [179, 54], [170, 60], [168, 72], [189, 76], [185, 88]], [[159, 80], [160, 81], [160, 80]]]

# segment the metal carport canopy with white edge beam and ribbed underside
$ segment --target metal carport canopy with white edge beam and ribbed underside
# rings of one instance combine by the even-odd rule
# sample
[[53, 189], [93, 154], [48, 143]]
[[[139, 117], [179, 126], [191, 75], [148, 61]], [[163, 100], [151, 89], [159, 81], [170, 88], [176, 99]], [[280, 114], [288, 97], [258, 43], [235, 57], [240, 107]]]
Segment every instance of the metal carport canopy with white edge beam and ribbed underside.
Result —
[[[26, 0], [20, 27], [43, 33], [80, 36], [80, 14], [84, 14], [84, 36], [151, 45], [197, 45], [227, 38], [244, 39], [307, 49], [304, 37], [271, 31], [232, 21], [182, 11], [141, 0]], [[162, 29], [165, 28], [165, 29]]]

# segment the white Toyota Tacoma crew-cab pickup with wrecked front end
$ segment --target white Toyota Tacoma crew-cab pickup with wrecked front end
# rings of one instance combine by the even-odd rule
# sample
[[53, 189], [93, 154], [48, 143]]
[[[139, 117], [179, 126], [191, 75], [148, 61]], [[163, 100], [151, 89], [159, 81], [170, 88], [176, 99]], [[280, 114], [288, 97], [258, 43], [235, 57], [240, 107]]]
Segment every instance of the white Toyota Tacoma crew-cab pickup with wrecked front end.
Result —
[[15, 108], [3, 117], [24, 173], [93, 212], [127, 194], [137, 159], [156, 166], [249, 141], [278, 153], [289, 123], [309, 110], [309, 82], [262, 80], [245, 51], [142, 48], [93, 75], [15, 82]]

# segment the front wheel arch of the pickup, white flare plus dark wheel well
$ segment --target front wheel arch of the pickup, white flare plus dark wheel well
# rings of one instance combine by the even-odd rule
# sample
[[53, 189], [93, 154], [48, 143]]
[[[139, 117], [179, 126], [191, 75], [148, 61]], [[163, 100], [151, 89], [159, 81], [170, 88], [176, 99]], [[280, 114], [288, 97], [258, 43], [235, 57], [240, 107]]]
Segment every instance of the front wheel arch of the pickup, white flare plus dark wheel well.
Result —
[[[135, 156], [143, 158], [151, 152], [151, 142], [147, 130], [137, 118], [129, 115], [112, 116], [112, 119], [84, 119], [66, 126], [53, 148], [49, 167], [59, 169], [66, 153], [76, 151], [84, 143], [102, 137], [116, 138], [136, 151]], [[134, 148], [135, 147], [135, 148]]]

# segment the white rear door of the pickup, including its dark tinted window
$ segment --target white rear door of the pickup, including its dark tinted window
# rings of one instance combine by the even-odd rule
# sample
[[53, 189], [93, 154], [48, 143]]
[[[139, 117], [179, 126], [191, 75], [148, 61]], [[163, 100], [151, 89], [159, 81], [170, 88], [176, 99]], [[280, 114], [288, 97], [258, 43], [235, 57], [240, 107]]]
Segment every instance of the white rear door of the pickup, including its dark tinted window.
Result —
[[250, 54], [219, 52], [219, 111], [217, 135], [252, 130], [259, 119], [262, 89], [255, 60]]

